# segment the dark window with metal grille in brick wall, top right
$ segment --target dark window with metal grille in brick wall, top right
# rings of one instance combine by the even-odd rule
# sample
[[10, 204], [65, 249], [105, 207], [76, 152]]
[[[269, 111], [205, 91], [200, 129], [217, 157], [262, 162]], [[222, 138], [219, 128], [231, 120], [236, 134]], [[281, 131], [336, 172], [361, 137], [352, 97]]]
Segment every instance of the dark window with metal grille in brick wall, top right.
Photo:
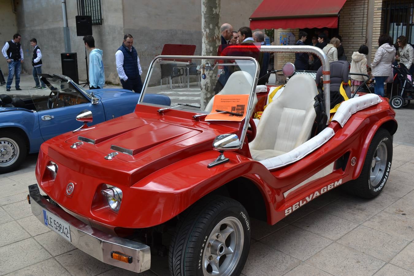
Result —
[[399, 36], [405, 36], [409, 43], [414, 44], [413, 12], [413, 0], [383, 1], [383, 30], [394, 42]]

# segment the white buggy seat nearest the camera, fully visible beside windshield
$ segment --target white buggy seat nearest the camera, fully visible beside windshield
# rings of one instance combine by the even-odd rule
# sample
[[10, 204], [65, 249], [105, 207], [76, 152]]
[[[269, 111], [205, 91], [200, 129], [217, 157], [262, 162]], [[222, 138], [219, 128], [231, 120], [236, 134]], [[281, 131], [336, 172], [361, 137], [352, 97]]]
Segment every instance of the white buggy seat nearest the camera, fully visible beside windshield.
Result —
[[256, 138], [249, 144], [257, 161], [279, 156], [300, 146], [310, 138], [316, 118], [315, 80], [306, 74], [289, 79], [280, 96], [263, 111]]

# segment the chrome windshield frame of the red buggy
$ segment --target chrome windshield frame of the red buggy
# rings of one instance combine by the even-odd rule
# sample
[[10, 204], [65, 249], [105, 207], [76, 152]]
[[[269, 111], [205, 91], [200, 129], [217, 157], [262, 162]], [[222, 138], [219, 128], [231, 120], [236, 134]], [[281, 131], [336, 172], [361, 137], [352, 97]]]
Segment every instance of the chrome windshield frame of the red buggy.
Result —
[[[244, 124], [243, 124], [243, 129], [240, 135], [240, 146], [239, 149], [242, 148], [243, 143], [244, 143], [244, 138], [246, 137], [246, 133], [247, 133], [247, 128], [249, 126], [249, 118], [251, 117], [251, 113], [253, 112], [253, 99], [256, 93], [256, 85], [258, 82], [258, 78], [259, 78], [259, 72], [260, 72], [260, 67], [259, 67], [259, 63], [255, 58], [252, 57], [226, 57], [226, 56], [205, 56], [205, 55], [157, 55], [149, 64], [149, 70], [147, 72], [147, 77], [145, 78], [144, 84], [142, 85], [142, 92], [140, 94], [140, 98], [138, 99], [138, 104], [140, 104], [141, 102], [141, 98], [142, 95], [144, 94], [143, 92], [145, 91], [145, 89], [147, 89], [147, 85], [149, 82], [149, 77], [154, 65], [154, 62], [157, 62], [157, 60], [159, 60], [160, 58], [168, 58], [168, 59], [176, 59], [176, 60], [188, 60], [188, 59], [199, 59], [199, 60], [250, 60], [253, 62], [253, 64], [256, 66], [256, 71], [255, 71], [255, 76], [253, 77], [253, 84], [252, 84], [252, 90], [250, 91], [250, 98], [249, 98], [249, 103], [247, 106], [247, 114], [246, 114], [246, 118], [244, 120]], [[185, 62], [187, 63], [187, 62]], [[193, 110], [194, 111], [194, 110]]]

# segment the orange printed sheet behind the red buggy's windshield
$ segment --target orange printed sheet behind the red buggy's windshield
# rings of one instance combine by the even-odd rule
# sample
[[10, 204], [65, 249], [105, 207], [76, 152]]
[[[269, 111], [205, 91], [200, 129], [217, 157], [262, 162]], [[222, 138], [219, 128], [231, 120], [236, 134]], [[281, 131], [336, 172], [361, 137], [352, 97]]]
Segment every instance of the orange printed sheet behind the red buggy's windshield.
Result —
[[[246, 118], [248, 101], [248, 94], [216, 95], [214, 96], [211, 113], [206, 116], [205, 121], [241, 122]], [[224, 113], [222, 111], [229, 111], [233, 114]]]

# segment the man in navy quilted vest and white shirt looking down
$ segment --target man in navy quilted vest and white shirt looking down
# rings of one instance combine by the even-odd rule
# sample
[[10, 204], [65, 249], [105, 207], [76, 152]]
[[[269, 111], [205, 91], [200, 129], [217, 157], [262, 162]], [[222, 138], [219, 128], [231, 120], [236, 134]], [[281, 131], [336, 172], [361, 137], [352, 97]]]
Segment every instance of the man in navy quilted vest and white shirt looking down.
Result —
[[141, 93], [142, 69], [137, 50], [132, 46], [133, 43], [134, 38], [130, 34], [125, 34], [122, 46], [115, 53], [116, 70], [123, 89]]

